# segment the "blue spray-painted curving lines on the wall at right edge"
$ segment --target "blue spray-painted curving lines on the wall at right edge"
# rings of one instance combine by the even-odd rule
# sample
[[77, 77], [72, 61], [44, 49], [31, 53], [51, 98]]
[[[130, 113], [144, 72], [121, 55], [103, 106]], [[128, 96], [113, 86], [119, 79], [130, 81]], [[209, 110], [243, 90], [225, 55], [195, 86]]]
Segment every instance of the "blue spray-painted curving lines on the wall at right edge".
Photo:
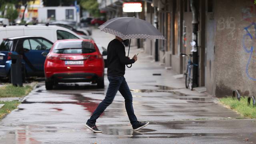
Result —
[[[246, 30], [246, 34], [243, 36], [243, 40], [242, 40], [243, 48], [246, 51], [246, 53], [250, 53], [250, 57], [249, 57], [248, 62], [246, 64], [246, 75], [248, 76], [248, 78], [250, 80], [256, 81], [256, 78], [253, 77], [253, 76], [250, 76], [250, 74], [249, 74], [249, 65], [250, 65], [250, 62], [251, 62], [251, 59], [252, 59], [252, 54], [253, 54], [253, 51], [254, 51], [254, 47], [253, 47], [253, 45], [251, 45], [250, 48], [247, 48], [247, 46], [245, 45], [245, 40], [251, 40], [251, 42], [255, 41], [255, 39], [253, 40], [252, 34], [248, 30], [249, 28], [253, 28], [254, 29], [255, 36], [256, 36], [256, 24], [253, 22], [252, 24], [250, 24], [249, 26], [244, 28], [244, 30]], [[250, 38], [250, 39], [247, 39], [247, 38]]]

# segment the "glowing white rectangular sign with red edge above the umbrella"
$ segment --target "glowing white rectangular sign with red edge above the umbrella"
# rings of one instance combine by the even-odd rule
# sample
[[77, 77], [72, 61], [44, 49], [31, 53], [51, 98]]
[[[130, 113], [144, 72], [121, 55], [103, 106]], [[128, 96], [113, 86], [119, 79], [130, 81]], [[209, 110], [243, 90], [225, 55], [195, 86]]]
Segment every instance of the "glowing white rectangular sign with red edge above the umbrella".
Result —
[[123, 12], [142, 12], [142, 4], [140, 2], [124, 2]]

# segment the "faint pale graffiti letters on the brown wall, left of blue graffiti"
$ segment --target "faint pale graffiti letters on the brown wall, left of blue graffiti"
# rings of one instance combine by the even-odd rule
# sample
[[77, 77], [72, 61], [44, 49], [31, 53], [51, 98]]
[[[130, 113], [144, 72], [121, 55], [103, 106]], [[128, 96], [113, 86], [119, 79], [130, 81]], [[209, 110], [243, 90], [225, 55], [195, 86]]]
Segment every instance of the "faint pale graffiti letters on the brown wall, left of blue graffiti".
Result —
[[218, 20], [217, 30], [229, 30], [228, 36], [231, 40], [236, 40], [236, 22], [234, 17], [224, 18]]

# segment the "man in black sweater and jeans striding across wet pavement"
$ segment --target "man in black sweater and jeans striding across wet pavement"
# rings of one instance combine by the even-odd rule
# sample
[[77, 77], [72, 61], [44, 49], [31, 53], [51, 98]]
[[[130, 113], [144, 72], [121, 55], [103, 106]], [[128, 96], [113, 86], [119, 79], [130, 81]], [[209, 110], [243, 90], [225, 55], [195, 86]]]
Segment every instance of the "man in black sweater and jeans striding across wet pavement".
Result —
[[98, 105], [90, 119], [86, 122], [86, 127], [93, 132], [102, 132], [95, 125], [96, 120], [104, 112], [104, 110], [112, 103], [117, 91], [122, 94], [125, 99], [125, 108], [128, 114], [130, 123], [133, 130], [139, 130], [148, 125], [149, 122], [139, 122], [134, 114], [132, 106], [132, 93], [124, 78], [125, 65], [133, 64], [137, 60], [137, 56], [134, 55], [132, 59], [125, 56], [124, 45], [122, 44], [122, 38], [116, 36], [116, 38], [108, 44], [108, 80], [109, 86], [105, 99]]

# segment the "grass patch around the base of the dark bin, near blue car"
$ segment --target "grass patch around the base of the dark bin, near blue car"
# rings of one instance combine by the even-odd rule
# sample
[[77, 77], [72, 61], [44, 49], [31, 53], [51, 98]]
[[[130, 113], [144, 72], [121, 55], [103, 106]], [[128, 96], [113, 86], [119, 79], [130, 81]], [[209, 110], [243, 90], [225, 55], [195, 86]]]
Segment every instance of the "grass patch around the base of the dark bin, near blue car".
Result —
[[31, 86], [16, 87], [12, 84], [0, 87], [0, 97], [22, 97], [26, 96], [32, 90]]

